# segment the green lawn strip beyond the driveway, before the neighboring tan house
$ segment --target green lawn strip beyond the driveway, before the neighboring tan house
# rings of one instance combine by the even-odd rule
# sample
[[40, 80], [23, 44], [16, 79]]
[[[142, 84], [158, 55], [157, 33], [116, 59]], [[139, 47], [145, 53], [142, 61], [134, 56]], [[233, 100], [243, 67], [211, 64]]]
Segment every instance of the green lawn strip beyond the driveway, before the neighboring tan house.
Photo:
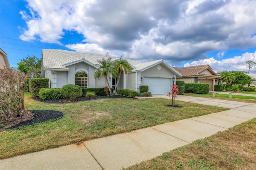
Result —
[[[206, 97], [206, 98], [213, 98], [213, 99], [224, 99], [224, 100], [230, 100], [230, 101], [240, 101], [240, 102], [246, 102], [246, 103], [256, 103], [256, 97], [252, 96], [242, 96], [242, 95], [234, 95], [232, 93], [232, 98], [229, 98], [228, 94], [218, 94], [218, 92], [215, 94], [215, 97], [213, 95], [208, 94], [194, 94], [194, 93], [184, 93], [186, 96], [193, 96], [193, 97]], [[250, 100], [253, 99], [253, 100]]]

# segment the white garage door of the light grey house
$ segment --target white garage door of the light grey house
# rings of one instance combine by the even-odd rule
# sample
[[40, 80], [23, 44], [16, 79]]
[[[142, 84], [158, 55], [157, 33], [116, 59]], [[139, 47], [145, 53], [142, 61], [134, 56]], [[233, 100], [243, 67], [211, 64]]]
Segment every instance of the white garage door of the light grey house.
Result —
[[148, 91], [150, 91], [152, 95], [167, 94], [171, 88], [171, 79], [144, 77], [143, 85], [148, 85]]

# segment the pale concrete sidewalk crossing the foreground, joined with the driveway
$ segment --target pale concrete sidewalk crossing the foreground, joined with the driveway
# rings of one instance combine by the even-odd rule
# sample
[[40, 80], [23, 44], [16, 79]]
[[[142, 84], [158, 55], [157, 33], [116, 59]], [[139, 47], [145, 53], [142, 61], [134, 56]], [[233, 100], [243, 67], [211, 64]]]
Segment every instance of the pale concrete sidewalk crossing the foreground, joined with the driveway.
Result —
[[231, 110], [0, 160], [0, 169], [118, 170], [256, 117], [253, 103], [180, 95], [176, 100]]

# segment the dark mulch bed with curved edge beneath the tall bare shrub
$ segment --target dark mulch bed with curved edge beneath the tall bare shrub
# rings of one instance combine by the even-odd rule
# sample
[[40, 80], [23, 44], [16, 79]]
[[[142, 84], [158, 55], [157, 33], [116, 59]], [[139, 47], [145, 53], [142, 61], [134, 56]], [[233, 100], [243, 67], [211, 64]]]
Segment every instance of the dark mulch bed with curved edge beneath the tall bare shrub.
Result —
[[43, 123], [51, 120], [56, 120], [56, 119], [62, 118], [62, 116], [64, 115], [60, 111], [52, 111], [52, 110], [28, 110], [28, 111], [32, 115], [32, 119], [21, 121], [20, 123], [17, 123], [13, 126], [4, 127], [2, 129], [0, 128], [0, 131], [6, 130], [6, 129], [16, 129], [19, 127], [33, 125], [35, 123]]

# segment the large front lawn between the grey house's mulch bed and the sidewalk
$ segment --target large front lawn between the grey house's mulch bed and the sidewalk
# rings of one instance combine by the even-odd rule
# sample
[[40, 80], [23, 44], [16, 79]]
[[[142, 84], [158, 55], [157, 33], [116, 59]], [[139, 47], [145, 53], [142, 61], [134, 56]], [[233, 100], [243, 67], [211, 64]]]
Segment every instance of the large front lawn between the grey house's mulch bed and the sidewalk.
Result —
[[28, 93], [25, 104], [28, 109], [58, 110], [64, 117], [0, 132], [0, 159], [228, 110], [182, 101], [176, 101], [182, 108], [166, 107], [170, 100], [160, 98], [44, 104]]

